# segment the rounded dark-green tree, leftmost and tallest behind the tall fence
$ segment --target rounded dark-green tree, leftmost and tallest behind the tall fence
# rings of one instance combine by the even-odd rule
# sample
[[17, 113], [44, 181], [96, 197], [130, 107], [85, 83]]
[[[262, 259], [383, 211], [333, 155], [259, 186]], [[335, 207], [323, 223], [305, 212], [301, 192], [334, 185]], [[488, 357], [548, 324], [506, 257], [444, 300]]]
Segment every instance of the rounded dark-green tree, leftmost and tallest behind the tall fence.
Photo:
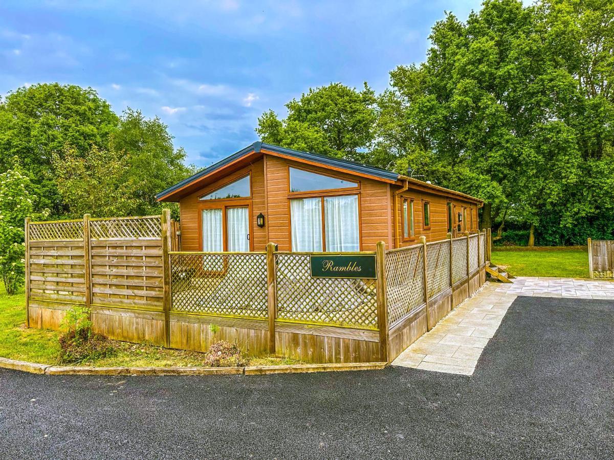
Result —
[[21, 87], [0, 102], [0, 171], [20, 158], [39, 207], [54, 216], [65, 210], [53, 180], [52, 157], [72, 145], [80, 155], [103, 147], [119, 118], [91, 88], [59, 83]]

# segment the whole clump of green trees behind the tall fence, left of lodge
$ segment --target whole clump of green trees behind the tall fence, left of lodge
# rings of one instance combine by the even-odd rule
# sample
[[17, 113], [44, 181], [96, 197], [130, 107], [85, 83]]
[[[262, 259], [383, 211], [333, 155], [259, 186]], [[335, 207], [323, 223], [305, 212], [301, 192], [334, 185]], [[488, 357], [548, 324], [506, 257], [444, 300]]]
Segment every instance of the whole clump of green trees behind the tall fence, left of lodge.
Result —
[[34, 210], [56, 218], [158, 213], [155, 194], [192, 172], [159, 118], [130, 108], [119, 117], [91, 88], [58, 83], [0, 101], [0, 172], [14, 157], [31, 180]]

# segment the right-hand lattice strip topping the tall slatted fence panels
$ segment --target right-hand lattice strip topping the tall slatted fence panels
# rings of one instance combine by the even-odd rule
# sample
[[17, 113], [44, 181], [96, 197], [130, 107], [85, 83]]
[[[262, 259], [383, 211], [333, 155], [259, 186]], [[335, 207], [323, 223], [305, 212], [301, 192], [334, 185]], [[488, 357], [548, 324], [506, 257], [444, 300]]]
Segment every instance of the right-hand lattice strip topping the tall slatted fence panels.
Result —
[[162, 235], [160, 216], [91, 220], [92, 239], [155, 239]]

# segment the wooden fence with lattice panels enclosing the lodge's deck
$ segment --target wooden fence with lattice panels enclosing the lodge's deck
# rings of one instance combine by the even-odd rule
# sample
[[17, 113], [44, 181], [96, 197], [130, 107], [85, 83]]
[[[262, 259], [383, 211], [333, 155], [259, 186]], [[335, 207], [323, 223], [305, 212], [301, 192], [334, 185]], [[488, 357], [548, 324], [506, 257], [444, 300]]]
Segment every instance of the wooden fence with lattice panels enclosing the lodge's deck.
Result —
[[[181, 252], [161, 216], [26, 220], [28, 324], [57, 329], [83, 305], [112, 339], [306, 362], [392, 361], [485, 282], [486, 234], [354, 255], [375, 279], [311, 277], [314, 253]], [[321, 253], [332, 255], [331, 253]], [[348, 254], [348, 253], [344, 253]]]

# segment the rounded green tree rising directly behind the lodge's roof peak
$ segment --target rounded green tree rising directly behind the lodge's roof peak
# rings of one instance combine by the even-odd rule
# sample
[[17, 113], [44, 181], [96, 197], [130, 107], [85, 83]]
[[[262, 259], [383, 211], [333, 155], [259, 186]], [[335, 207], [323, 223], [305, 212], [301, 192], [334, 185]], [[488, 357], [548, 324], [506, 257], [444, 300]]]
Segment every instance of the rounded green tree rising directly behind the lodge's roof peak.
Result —
[[341, 83], [309, 88], [286, 107], [288, 116], [284, 120], [272, 110], [258, 118], [255, 131], [264, 142], [359, 159], [373, 141], [375, 93], [367, 83], [362, 91]]

